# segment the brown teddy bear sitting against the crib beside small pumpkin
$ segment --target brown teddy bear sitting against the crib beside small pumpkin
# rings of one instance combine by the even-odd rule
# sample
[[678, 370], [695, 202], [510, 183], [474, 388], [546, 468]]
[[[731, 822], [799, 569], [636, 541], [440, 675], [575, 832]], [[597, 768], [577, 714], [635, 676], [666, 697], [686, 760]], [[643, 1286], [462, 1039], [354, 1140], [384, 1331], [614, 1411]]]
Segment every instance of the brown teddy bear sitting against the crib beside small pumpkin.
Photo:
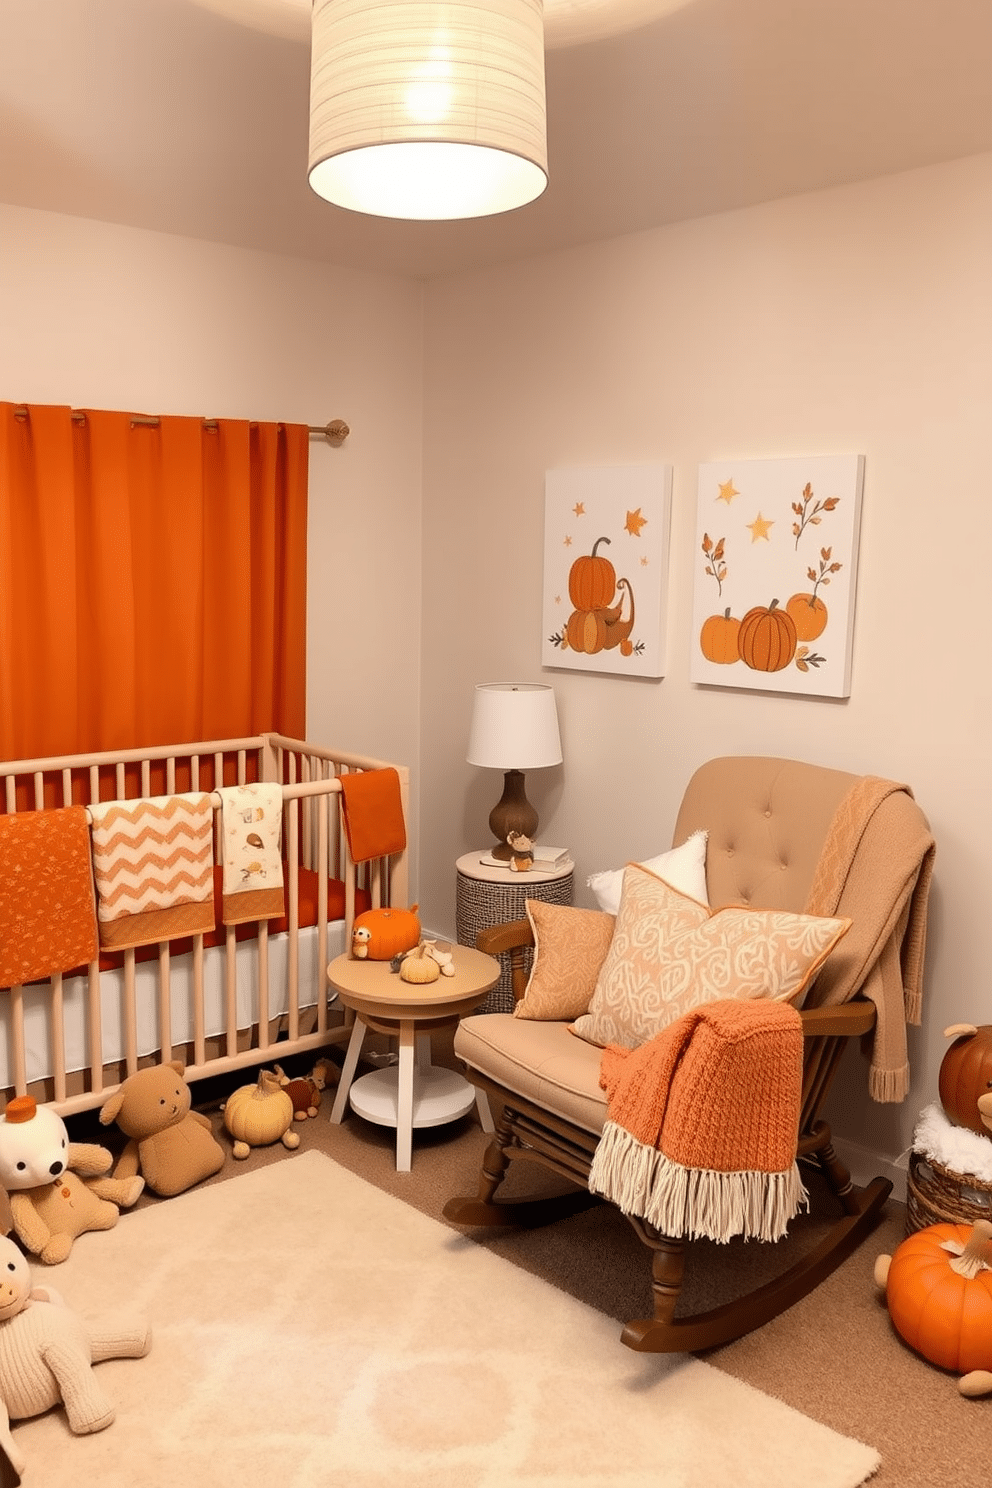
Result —
[[190, 1110], [184, 1073], [180, 1059], [138, 1070], [100, 1109], [104, 1126], [116, 1120], [131, 1138], [113, 1170], [115, 1177], [131, 1178], [140, 1173], [152, 1193], [161, 1198], [183, 1193], [193, 1183], [213, 1177], [225, 1162], [225, 1149], [210, 1120]]

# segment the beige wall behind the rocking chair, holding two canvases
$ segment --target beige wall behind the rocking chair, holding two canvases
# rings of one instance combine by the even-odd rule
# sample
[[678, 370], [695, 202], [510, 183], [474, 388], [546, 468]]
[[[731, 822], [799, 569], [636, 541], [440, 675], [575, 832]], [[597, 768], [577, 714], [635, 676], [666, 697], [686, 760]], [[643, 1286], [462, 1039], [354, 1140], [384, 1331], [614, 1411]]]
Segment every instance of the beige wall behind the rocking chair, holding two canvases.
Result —
[[[938, 841], [925, 1022], [903, 1107], [837, 1132], [894, 1159], [949, 1022], [992, 1016], [992, 158], [431, 284], [425, 359], [421, 897], [454, 929], [454, 859], [500, 792], [464, 760], [473, 684], [553, 682], [565, 763], [534, 772], [576, 881], [671, 842], [692, 769], [799, 756], [909, 781]], [[689, 683], [696, 472], [723, 455], [866, 457], [849, 701]], [[541, 671], [546, 469], [674, 466], [669, 667]], [[582, 890], [583, 902], [590, 902]]]

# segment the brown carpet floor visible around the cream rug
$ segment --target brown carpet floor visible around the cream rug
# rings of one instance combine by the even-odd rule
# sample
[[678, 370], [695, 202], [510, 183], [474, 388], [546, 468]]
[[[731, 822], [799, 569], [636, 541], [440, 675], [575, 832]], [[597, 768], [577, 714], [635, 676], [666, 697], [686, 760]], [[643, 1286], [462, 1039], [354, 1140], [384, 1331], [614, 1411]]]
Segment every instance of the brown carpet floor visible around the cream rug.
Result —
[[[434, 1056], [451, 1062], [440, 1039], [434, 1040]], [[201, 1086], [198, 1095], [202, 1109], [213, 1109], [220, 1131], [213, 1092]], [[329, 1103], [314, 1120], [297, 1128], [302, 1137], [297, 1153], [281, 1146], [256, 1149], [244, 1164], [231, 1159], [211, 1181], [236, 1180], [257, 1167], [293, 1162], [300, 1152], [318, 1150], [436, 1219], [452, 1195], [474, 1193], [488, 1140], [474, 1117], [415, 1132], [412, 1171], [397, 1174], [390, 1129], [354, 1115], [332, 1126], [327, 1115]], [[73, 1134], [79, 1140], [115, 1144], [113, 1129], [86, 1128], [83, 1117], [76, 1123], [79, 1129]], [[149, 1196], [140, 1205], [162, 1202], [175, 1201]], [[894, 1333], [872, 1272], [876, 1254], [894, 1250], [904, 1228], [904, 1208], [889, 1202], [876, 1234], [809, 1298], [766, 1327], [705, 1357], [715, 1369], [876, 1448], [882, 1466], [872, 1478], [872, 1488], [944, 1488], [986, 1475], [985, 1464], [992, 1461], [992, 1397], [962, 1399], [953, 1376], [916, 1357]], [[535, 1231], [476, 1231], [471, 1242], [610, 1318], [616, 1324], [617, 1369], [625, 1367], [629, 1354], [619, 1342], [620, 1323], [644, 1314], [650, 1286], [644, 1247], [616, 1210], [599, 1205]], [[791, 1245], [793, 1240], [776, 1247], [748, 1245], [744, 1253], [733, 1247], [695, 1247], [692, 1275], [705, 1287], [715, 1271], [714, 1292], [721, 1295], [739, 1283], [741, 1274], [784, 1266]]]

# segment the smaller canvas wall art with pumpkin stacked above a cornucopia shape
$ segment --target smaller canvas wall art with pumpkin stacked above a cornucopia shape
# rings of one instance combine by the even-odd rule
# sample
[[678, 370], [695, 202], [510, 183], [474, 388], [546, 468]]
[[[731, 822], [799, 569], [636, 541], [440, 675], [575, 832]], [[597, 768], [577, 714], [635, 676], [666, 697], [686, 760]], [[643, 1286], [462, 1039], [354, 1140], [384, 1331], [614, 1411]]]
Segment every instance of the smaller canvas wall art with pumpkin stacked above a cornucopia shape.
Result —
[[672, 470], [549, 470], [544, 481], [544, 667], [665, 676]]

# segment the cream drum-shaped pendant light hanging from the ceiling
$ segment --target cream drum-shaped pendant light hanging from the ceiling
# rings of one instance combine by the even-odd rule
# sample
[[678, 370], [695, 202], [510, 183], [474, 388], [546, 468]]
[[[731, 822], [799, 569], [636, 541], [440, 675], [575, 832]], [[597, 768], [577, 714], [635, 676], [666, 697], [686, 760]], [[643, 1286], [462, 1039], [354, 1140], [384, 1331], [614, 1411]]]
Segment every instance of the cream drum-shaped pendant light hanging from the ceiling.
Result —
[[541, 0], [314, 0], [309, 183], [376, 217], [486, 217], [547, 185]]

